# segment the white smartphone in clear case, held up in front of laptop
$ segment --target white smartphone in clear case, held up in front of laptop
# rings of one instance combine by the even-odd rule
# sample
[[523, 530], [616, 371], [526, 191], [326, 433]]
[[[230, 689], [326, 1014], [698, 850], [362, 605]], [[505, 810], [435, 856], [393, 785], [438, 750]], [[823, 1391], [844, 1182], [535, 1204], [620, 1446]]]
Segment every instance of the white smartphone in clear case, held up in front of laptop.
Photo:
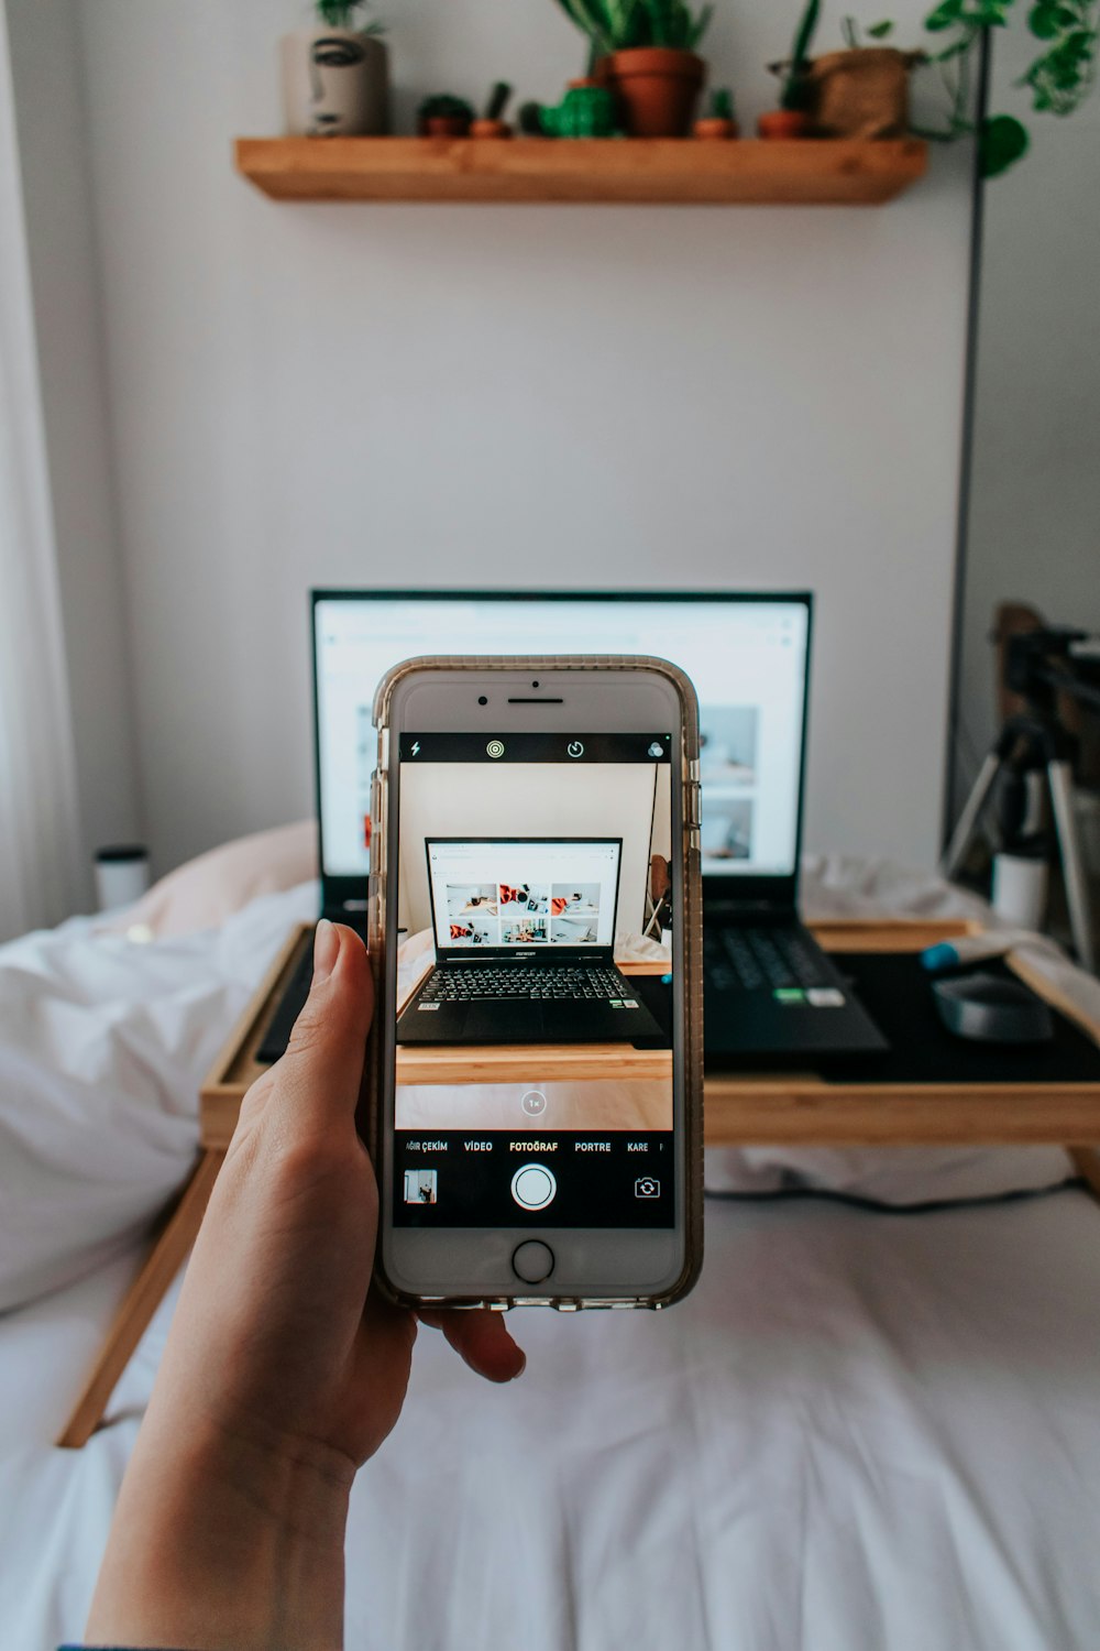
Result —
[[701, 1258], [688, 679], [412, 660], [376, 725], [383, 1288], [417, 1308], [678, 1299]]

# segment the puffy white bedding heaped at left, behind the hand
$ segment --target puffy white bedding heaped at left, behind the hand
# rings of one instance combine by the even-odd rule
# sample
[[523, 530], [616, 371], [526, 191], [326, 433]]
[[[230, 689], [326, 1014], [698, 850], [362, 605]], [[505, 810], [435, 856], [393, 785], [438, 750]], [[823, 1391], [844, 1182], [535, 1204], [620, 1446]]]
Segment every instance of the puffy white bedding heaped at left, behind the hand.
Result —
[[135, 944], [91, 918], [0, 946], [0, 1311], [130, 1245], [188, 1177], [198, 1090], [317, 885]]

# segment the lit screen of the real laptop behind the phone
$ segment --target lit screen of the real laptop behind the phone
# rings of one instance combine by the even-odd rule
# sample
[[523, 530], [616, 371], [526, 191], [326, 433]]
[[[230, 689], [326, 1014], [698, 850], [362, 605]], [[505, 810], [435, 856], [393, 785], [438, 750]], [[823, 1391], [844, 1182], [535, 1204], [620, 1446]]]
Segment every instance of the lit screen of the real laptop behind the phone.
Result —
[[806, 594], [313, 593], [322, 870], [366, 877], [371, 707], [417, 654], [658, 654], [699, 695], [703, 872], [793, 877], [810, 650]]

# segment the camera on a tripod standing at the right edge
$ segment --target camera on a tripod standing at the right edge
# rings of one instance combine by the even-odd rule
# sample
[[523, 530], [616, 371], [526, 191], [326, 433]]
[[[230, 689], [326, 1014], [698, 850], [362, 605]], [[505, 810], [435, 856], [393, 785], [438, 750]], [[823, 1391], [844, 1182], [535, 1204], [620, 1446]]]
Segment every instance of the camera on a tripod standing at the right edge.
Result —
[[[1049, 847], [1041, 835], [1042, 792], [1051, 802], [1054, 845], [1062, 862], [1074, 949], [1085, 969], [1095, 969], [1095, 939], [1088, 878], [1074, 812], [1074, 771], [1082, 763], [1082, 746], [1097, 738], [1088, 712], [1100, 712], [1100, 637], [1072, 627], [1042, 626], [1006, 639], [1003, 680], [1021, 708], [1003, 723], [985, 758], [973, 791], [942, 860], [945, 877], [957, 877], [978, 827], [994, 783], [999, 779], [1001, 855], [1042, 867]], [[1085, 768], [1093, 769], [1095, 753], [1085, 750]], [[1036, 819], [1039, 799], [1039, 821]], [[1013, 850], [1026, 847], [1026, 855]]]

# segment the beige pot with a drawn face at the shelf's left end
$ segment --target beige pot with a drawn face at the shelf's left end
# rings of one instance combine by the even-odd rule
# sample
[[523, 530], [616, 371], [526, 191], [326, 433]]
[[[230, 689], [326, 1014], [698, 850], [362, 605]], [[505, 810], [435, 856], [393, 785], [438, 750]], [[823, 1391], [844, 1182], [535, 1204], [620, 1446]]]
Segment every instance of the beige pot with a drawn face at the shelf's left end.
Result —
[[389, 56], [366, 0], [315, 0], [317, 21], [279, 41], [290, 137], [363, 137], [389, 127]]

